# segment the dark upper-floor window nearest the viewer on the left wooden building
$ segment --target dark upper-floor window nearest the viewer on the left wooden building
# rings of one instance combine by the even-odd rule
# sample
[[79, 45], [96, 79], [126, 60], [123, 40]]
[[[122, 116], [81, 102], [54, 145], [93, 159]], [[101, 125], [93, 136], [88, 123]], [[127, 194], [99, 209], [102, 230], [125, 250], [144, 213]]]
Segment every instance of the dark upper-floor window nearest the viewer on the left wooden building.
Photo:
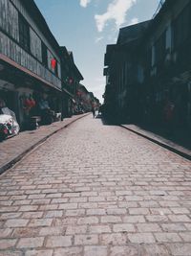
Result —
[[26, 51], [30, 51], [30, 27], [21, 14], [19, 15], [19, 43]]

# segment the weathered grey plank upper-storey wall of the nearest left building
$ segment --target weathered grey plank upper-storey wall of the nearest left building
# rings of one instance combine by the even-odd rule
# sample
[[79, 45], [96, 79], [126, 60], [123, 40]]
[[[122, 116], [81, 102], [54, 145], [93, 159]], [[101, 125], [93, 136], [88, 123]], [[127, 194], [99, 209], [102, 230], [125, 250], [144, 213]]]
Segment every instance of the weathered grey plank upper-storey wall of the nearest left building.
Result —
[[[12, 5], [11, 0], [0, 0], [0, 53], [8, 58], [11, 58], [21, 66], [26, 67], [44, 80], [53, 83], [54, 86], [61, 88], [59, 57], [53, 50], [50, 42], [39, 31], [35, 23], [32, 21], [31, 16], [23, 8], [20, 1], [13, 0], [12, 2], [15, 4], [15, 7], [19, 10], [19, 12], [21, 12], [26, 20], [30, 23], [31, 53], [28, 53], [21, 46], [19, 46], [18, 11]], [[54, 71], [50, 64], [50, 70], [48, 70], [48, 68], [41, 63], [41, 40], [43, 40], [43, 42], [49, 48], [51, 57], [55, 57], [58, 60], [58, 78], [53, 75]]]

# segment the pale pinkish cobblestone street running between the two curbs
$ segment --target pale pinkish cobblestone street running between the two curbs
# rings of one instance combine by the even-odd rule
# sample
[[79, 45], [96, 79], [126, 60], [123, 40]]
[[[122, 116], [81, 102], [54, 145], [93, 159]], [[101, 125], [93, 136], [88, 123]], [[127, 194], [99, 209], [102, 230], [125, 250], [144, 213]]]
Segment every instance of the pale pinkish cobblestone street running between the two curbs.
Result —
[[191, 255], [191, 164], [92, 115], [0, 177], [1, 256]]

